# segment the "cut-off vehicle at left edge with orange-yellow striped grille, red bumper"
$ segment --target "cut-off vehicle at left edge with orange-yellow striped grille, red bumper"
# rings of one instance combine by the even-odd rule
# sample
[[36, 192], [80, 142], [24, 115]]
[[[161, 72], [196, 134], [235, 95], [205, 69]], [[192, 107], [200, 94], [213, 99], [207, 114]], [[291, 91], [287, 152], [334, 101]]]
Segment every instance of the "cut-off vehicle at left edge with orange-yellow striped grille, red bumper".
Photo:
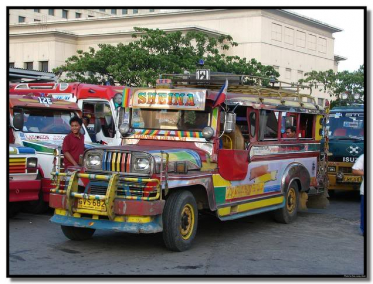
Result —
[[14, 216], [22, 202], [39, 199], [40, 180], [35, 149], [9, 144], [9, 216]]

